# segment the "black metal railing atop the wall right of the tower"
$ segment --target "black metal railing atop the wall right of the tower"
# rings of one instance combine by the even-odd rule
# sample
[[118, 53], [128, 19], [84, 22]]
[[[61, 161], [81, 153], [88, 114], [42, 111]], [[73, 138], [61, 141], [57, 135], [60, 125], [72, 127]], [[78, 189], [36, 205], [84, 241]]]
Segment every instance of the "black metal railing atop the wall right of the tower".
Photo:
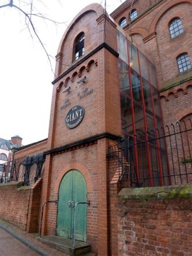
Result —
[[192, 184], [192, 122], [124, 138], [109, 145], [108, 157], [118, 158], [121, 188]]

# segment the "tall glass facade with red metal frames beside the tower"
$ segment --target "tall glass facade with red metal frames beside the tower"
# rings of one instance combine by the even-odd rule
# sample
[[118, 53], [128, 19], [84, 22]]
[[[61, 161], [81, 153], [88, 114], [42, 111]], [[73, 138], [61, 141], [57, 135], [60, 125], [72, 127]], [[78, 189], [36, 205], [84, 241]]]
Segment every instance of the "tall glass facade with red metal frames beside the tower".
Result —
[[143, 183], [145, 186], [158, 185], [162, 166], [156, 161], [160, 155], [159, 145], [154, 138], [156, 129], [163, 125], [156, 68], [119, 31], [117, 38], [122, 137], [124, 143], [130, 146], [127, 161], [131, 182], [139, 182], [138, 186]]

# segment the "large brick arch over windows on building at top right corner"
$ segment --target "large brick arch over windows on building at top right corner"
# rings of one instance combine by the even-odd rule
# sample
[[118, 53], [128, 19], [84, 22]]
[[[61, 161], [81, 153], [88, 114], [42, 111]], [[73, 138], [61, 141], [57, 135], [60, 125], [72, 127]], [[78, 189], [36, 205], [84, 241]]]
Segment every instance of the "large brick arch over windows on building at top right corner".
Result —
[[173, 6], [177, 5], [177, 4], [181, 4], [181, 3], [192, 3], [192, 0], [173, 0], [172, 2], [166, 4], [160, 11], [159, 13], [156, 15], [156, 17], [152, 20], [152, 23], [150, 25], [150, 29], [149, 29], [149, 34], [151, 35], [152, 33], [156, 32], [156, 26], [157, 26], [157, 22], [159, 21], [159, 19], [161, 18], [161, 16], [163, 16], [163, 14], [168, 11], [170, 8], [172, 8]]

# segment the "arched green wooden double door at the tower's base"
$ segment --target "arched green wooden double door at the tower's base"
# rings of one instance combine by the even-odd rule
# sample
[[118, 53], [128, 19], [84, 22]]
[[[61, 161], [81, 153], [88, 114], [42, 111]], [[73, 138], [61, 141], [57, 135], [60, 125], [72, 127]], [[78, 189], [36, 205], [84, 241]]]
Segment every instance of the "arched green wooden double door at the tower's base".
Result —
[[[77, 170], [71, 170], [61, 180], [58, 202], [57, 234], [72, 239], [74, 205], [86, 202], [86, 182]], [[86, 242], [86, 204], [78, 204], [76, 210], [76, 240]]]

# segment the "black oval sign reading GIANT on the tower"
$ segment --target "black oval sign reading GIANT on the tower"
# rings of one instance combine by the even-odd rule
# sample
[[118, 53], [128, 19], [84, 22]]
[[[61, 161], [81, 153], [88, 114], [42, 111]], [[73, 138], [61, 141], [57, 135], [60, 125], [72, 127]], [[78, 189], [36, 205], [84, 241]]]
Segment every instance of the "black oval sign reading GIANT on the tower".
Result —
[[65, 118], [65, 123], [69, 129], [77, 127], [83, 120], [84, 108], [81, 106], [75, 106], [74, 108], [68, 111]]

